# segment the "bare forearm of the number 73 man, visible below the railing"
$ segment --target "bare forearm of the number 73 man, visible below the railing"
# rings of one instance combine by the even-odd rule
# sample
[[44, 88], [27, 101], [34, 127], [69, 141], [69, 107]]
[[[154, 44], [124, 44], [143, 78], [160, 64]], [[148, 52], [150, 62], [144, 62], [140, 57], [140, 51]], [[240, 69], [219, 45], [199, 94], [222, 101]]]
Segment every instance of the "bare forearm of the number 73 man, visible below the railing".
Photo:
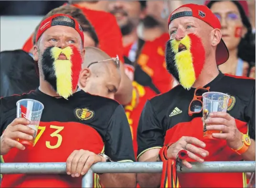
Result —
[[136, 174], [101, 174], [100, 182], [105, 188], [136, 188]]

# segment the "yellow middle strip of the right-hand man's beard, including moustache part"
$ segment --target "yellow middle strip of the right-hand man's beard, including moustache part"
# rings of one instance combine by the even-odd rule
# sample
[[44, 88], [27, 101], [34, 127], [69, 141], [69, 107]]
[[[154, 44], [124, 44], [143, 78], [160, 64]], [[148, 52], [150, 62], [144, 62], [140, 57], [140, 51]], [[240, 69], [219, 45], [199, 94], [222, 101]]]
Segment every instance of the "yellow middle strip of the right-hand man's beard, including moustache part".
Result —
[[[179, 44], [183, 44], [187, 50], [178, 52]], [[171, 47], [175, 53], [175, 66], [178, 69], [180, 84], [185, 89], [191, 89], [195, 82], [192, 54], [190, 52], [190, 38], [184, 37], [181, 41], [172, 40]]]

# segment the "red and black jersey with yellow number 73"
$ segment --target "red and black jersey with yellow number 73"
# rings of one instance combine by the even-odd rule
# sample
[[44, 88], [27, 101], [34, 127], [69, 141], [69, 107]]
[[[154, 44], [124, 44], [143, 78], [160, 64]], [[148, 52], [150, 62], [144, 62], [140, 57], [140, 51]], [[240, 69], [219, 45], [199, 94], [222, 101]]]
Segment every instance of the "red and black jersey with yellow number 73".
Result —
[[[104, 152], [113, 161], [135, 161], [128, 120], [115, 100], [74, 93], [68, 100], [54, 98], [39, 89], [21, 96], [2, 98], [0, 131], [16, 118], [16, 102], [35, 99], [44, 109], [32, 148], [12, 148], [4, 162], [66, 162], [74, 150]], [[68, 175], [4, 175], [1, 187], [81, 187], [82, 178]], [[95, 185], [96, 186], [96, 185]]]

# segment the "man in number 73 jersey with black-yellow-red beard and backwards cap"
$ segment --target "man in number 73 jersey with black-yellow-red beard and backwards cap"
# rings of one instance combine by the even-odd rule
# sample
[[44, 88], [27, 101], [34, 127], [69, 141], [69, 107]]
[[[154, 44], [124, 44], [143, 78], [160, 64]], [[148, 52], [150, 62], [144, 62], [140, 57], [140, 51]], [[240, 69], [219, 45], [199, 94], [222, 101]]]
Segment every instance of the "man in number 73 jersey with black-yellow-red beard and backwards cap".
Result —
[[[4, 162], [66, 162], [66, 173], [4, 175], [1, 187], [81, 187], [82, 176], [96, 162], [134, 161], [123, 107], [115, 100], [77, 91], [85, 49], [74, 18], [55, 14], [40, 24], [33, 58], [40, 87], [29, 94], [1, 99], [0, 155]], [[16, 118], [16, 102], [35, 99], [44, 109], [33, 146], [34, 130]], [[70, 176], [69, 176], [70, 175]], [[96, 175], [95, 175], [96, 178]], [[98, 179], [100, 178], [100, 182]], [[135, 187], [135, 174], [100, 174], [95, 186]]]

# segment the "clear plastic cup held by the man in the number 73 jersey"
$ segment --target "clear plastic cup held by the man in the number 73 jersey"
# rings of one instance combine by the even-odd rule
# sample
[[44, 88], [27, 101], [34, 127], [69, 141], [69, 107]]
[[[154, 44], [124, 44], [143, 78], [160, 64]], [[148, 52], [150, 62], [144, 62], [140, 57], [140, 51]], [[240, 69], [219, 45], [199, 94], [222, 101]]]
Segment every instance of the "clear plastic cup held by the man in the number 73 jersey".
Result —
[[21, 99], [17, 103], [17, 118], [26, 118], [30, 120], [28, 127], [35, 130], [32, 140], [18, 139], [18, 141], [27, 146], [34, 146], [35, 137], [43, 112], [43, 104], [34, 99]]

